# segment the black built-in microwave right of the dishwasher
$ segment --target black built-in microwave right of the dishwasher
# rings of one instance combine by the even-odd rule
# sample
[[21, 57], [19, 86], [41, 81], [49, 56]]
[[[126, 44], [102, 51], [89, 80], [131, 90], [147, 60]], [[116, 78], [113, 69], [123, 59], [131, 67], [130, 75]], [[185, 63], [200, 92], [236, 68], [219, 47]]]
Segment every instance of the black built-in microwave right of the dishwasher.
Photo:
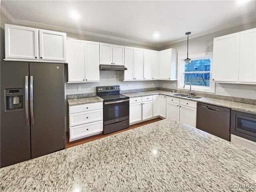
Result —
[[256, 115], [241, 111], [231, 112], [231, 133], [256, 142]]

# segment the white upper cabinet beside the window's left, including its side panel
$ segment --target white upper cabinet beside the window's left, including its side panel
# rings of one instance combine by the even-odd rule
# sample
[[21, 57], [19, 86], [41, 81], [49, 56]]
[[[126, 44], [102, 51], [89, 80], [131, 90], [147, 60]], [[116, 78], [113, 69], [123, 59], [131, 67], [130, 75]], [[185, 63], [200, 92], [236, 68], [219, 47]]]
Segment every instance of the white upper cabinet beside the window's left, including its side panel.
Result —
[[177, 50], [160, 51], [160, 80], [177, 80]]

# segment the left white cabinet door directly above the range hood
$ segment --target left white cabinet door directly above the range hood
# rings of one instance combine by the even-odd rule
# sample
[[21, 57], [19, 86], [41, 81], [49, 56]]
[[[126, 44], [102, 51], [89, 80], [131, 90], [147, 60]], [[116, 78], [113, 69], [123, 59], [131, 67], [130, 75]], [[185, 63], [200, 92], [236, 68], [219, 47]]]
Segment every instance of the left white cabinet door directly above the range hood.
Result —
[[113, 45], [100, 43], [100, 64], [112, 65], [113, 64]]

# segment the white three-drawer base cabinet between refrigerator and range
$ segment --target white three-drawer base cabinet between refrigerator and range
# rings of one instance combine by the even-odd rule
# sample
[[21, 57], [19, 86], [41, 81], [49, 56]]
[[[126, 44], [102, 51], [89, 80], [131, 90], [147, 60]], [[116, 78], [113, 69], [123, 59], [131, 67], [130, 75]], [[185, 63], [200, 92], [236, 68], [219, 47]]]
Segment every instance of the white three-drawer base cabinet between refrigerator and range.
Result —
[[103, 131], [103, 103], [69, 106], [69, 141]]

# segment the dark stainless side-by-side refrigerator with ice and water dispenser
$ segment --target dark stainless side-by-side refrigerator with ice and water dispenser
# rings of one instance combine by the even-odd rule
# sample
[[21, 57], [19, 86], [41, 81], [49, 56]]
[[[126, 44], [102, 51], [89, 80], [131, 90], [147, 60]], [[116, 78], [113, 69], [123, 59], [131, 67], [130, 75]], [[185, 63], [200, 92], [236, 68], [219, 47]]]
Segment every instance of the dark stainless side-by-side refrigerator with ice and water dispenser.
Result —
[[65, 148], [64, 64], [1, 61], [0, 164]]

